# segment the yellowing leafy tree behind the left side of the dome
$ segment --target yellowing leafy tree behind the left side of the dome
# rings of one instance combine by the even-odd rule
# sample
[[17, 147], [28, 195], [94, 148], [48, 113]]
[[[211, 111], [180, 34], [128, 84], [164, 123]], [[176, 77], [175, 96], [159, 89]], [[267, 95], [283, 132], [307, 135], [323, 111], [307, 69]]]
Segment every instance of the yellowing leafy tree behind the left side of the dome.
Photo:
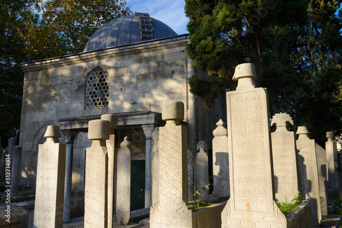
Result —
[[27, 22], [22, 33], [33, 60], [80, 53], [99, 27], [131, 14], [124, 0], [38, 1], [41, 16]]

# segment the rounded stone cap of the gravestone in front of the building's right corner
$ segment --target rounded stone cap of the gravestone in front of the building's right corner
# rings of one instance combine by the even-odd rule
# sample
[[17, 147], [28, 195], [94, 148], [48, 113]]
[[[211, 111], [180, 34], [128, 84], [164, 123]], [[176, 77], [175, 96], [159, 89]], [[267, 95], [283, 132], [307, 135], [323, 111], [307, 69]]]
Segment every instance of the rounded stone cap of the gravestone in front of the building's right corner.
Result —
[[166, 101], [161, 104], [161, 118], [163, 120], [174, 120], [176, 124], [184, 119], [184, 104], [181, 101]]

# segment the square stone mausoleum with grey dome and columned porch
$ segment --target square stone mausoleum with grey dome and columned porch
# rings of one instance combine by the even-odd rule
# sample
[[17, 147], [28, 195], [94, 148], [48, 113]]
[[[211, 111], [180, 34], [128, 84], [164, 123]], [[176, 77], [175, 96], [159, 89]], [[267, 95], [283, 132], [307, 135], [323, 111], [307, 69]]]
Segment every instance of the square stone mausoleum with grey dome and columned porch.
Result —
[[153, 128], [165, 124], [161, 103], [184, 103], [183, 124], [192, 153], [201, 140], [210, 152], [216, 122], [226, 122], [224, 100], [209, 111], [189, 92], [189, 77], [204, 73], [187, 57], [187, 42], [188, 34], [177, 35], [148, 14], [136, 13], [103, 25], [82, 53], [23, 63], [20, 184], [35, 188], [38, 145], [46, 140], [47, 126], [55, 125], [62, 131], [60, 141], [67, 143], [66, 178], [68, 173], [71, 177], [67, 185], [83, 191], [86, 148], [91, 145], [88, 122], [114, 114], [118, 116], [116, 153], [124, 137], [132, 144], [131, 201], [135, 205], [131, 210], [150, 207], [150, 142]]

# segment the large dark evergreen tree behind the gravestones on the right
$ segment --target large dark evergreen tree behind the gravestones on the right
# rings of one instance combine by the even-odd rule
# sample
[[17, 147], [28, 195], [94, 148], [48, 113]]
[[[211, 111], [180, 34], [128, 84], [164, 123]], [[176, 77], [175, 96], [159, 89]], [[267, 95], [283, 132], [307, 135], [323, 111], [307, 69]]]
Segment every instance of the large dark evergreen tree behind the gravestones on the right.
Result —
[[185, 3], [187, 54], [211, 76], [192, 76], [190, 91], [206, 106], [235, 88], [235, 66], [251, 62], [257, 85], [269, 91], [272, 115], [289, 113], [316, 139], [324, 140], [328, 130], [341, 132], [341, 1]]

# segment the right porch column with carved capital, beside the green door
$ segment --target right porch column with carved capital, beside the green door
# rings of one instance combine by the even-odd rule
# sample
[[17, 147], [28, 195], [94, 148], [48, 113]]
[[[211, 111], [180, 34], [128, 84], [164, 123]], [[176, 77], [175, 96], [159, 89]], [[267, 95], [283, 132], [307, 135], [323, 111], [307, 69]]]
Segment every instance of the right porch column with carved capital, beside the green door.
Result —
[[150, 208], [152, 205], [152, 181], [151, 181], [151, 160], [150, 157], [150, 149], [151, 149], [151, 141], [152, 141], [152, 132], [153, 125], [143, 125], [142, 130], [144, 130], [145, 137], [146, 137], [146, 162], [145, 162], [145, 208]]

